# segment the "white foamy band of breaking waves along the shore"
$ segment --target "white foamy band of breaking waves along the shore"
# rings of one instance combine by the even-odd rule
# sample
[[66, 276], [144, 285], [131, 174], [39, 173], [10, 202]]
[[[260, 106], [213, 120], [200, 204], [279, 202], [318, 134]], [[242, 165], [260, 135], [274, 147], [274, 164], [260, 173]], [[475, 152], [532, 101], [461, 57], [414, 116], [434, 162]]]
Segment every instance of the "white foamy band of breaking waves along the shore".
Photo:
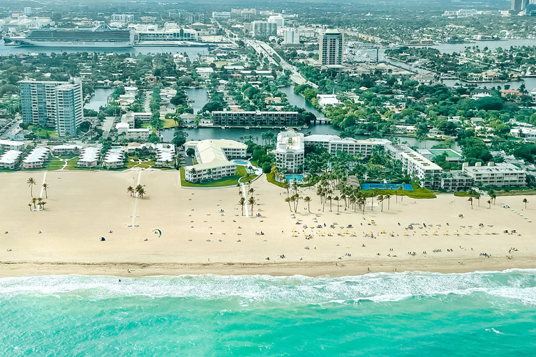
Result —
[[78, 295], [99, 299], [113, 296], [147, 298], [237, 298], [241, 305], [270, 303], [391, 302], [433, 296], [487, 294], [493, 298], [536, 305], [536, 269], [442, 274], [424, 272], [374, 273], [342, 278], [302, 275], [180, 275], [119, 278], [52, 275], [0, 278], [0, 300], [21, 294]]

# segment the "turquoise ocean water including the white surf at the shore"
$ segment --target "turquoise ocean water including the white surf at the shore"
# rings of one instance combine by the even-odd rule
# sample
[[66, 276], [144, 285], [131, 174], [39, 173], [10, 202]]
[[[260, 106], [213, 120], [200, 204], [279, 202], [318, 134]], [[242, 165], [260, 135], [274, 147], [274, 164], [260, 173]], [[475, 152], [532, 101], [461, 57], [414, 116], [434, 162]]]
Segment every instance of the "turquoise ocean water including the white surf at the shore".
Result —
[[1, 356], [536, 356], [536, 270], [0, 279]]

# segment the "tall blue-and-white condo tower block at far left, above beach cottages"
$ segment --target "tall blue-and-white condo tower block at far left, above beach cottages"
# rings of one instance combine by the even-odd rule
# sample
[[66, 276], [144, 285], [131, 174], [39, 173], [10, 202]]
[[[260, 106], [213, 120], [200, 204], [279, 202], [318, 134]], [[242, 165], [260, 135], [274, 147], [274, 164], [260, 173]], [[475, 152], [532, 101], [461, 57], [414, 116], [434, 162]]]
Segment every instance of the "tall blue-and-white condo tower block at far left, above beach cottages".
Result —
[[24, 79], [20, 83], [22, 121], [56, 128], [58, 135], [76, 135], [84, 120], [82, 79], [70, 82]]

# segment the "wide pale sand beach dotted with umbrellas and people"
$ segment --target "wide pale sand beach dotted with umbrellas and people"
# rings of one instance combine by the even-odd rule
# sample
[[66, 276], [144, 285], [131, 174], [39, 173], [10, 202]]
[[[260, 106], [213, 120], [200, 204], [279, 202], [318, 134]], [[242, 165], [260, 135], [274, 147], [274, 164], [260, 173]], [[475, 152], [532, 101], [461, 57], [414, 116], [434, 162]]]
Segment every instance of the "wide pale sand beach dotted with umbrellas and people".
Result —
[[[369, 199], [363, 215], [351, 208], [345, 211], [343, 201], [338, 210], [333, 202], [332, 212], [327, 202], [322, 213], [315, 189], [304, 188], [300, 195], [312, 198], [311, 213], [301, 201], [293, 214], [284, 202], [286, 190], [262, 176], [251, 185], [258, 202], [253, 214], [261, 216], [246, 218], [238, 205], [238, 188], [181, 188], [177, 171], [57, 171], [46, 174], [50, 188], [47, 199], [43, 192], [45, 211], [30, 211], [27, 179], [36, 179], [34, 197], [38, 197], [44, 174], [0, 174], [1, 276], [340, 276], [368, 271], [465, 272], [536, 265], [536, 201], [531, 197], [527, 197], [527, 208], [522, 203], [524, 197], [513, 196], [498, 197], [491, 208], [482, 197], [480, 206], [475, 200], [473, 209], [466, 197], [454, 195], [404, 197], [398, 203], [392, 197], [390, 205], [383, 203], [383, 212], [378, 202], [371, 211]], [[126, 191], [138, 181], [147, 191], [143, 199]], [[510, 208], [503, 208], [505, 205]], [[420, 225], [406, 229], [411, 222]], [[160, 238], [154, 229], [162, 231]], [[512, 229], [516, 234], [510, 234]], [[505, 230], [509, 233], [503, 233]], [[264, 234], [257, 234], [260, 231]], [[374, 238], [366, 236], [368, 232]], [[306, 239], [307, 235], [312, 238]], [[100, 241], [101, 237], [105, 241]]]

